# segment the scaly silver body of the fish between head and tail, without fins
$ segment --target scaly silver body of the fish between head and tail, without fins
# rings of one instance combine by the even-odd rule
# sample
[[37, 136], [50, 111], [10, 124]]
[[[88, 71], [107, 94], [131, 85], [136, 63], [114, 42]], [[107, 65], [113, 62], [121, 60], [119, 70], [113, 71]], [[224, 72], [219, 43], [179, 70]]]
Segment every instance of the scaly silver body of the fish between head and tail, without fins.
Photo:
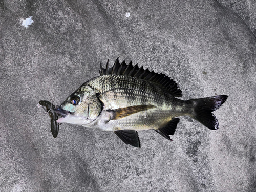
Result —
[[[156, 106], [155, 109], [138, 112], [123, 119], [108, 122], [108, 126], [105, 126], [108, 131], [158, 129], [173, 117], [180, 116], [177, 106], [179, 106], [179, 101], [181, 103], [183, 101], [174, 98], [171, 94], [159, 88], [158, 84], [150, 81], [122, 75], [103, 75], [91, 79], [81, 87], [83, 89], [83, 87], [88, 86], [101, 94], [105, 109], [115, 110], [142, 104]], [[117, 97], [117, 100], [113, 100], [115, 97]], [[183, 109], [182, 114], [184, 114], [184, 111], [185, 109]], [[110, 127], [113, 128], [110, 129]]]

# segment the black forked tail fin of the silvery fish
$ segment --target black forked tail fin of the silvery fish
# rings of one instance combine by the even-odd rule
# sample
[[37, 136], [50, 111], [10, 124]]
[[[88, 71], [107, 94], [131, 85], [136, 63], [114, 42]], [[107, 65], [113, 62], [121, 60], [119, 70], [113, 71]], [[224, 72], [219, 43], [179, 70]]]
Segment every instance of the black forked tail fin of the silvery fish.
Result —
[[214, 97], [189, 100], [194, 107], [190, 116], [211, 130], [219, 129], [218, 120], [211, 112], [219, 109], [227, 100], [227, 97], [227, 95], [217, 95]]

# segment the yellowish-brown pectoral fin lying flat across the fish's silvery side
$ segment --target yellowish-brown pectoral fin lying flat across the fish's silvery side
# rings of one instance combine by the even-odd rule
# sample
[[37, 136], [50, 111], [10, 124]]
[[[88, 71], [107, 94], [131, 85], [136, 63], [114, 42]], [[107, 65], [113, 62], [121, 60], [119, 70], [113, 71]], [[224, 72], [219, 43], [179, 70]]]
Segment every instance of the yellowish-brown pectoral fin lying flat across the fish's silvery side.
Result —
[[134, 113], [138, 113], [141, 111], [149, 110], [152, 108], [156, 108], [155, 105], [134, 105], [134, 106], [127, 106], [126, 108], [118, 108], [116, 110], [109, 110], [112, 112], [113, 116], [111, 120], [121, 119], [132, 115]]

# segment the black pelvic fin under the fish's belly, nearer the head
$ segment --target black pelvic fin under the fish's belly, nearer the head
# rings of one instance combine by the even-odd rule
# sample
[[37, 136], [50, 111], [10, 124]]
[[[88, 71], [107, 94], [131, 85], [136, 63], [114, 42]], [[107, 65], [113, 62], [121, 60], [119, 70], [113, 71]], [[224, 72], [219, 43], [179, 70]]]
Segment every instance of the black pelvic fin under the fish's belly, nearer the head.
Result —
[[140, 147], [140, 140], [135, 130], [118, 130], [114, 133], [127, 145]]

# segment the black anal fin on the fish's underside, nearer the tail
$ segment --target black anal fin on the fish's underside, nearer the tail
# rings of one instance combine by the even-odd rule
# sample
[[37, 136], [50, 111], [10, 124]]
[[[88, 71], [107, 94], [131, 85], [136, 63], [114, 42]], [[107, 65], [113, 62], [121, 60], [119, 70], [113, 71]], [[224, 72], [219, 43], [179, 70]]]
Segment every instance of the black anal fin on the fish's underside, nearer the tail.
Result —
[[157, 133], [159, 133], [161, 136], [163, 136], [164, 138], [172, 141], [172, 139], [170, 139], [169, 135], [174, 135], [177, 124], [180, 122], [179, 118], [173, 118], [172, 120], [170, 120], [164, 127], [161, 127], [157, 130], [155, 130]]

